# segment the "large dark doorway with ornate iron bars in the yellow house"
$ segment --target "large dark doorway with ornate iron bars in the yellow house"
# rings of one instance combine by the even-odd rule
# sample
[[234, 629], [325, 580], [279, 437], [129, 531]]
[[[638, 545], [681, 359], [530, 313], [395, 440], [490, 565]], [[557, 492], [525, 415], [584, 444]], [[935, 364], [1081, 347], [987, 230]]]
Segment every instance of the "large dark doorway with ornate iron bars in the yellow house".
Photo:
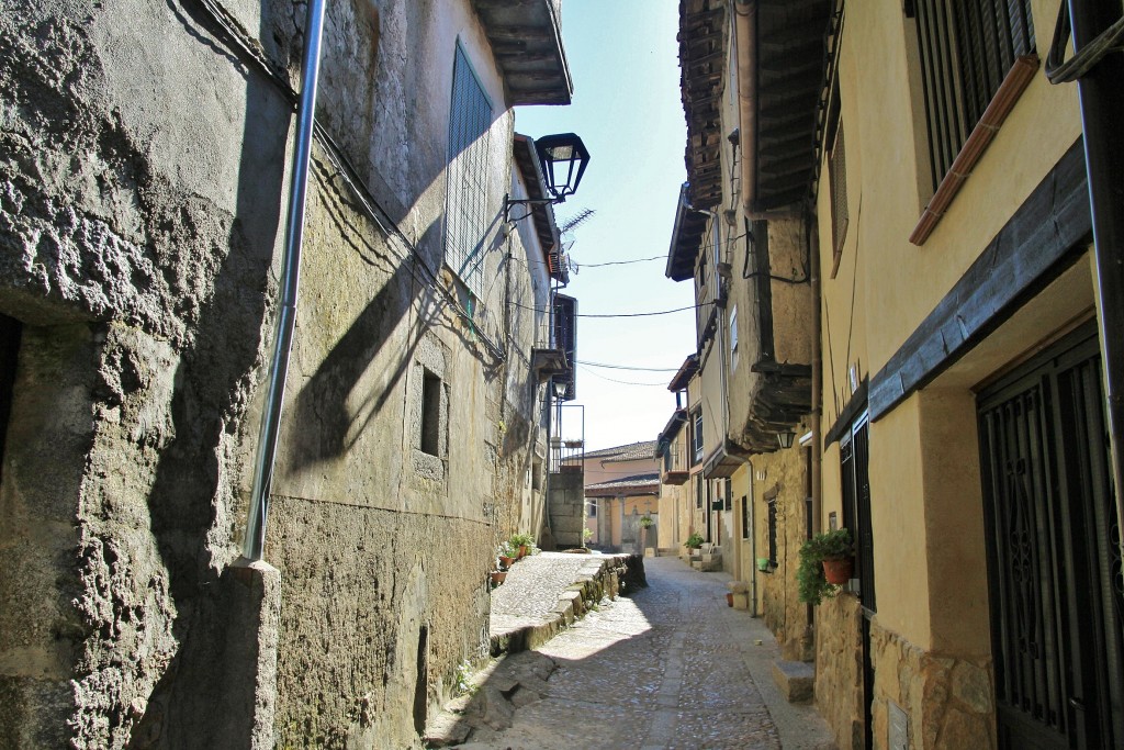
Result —
[[1000, 748], [1124, 743], [1103, 403], [1091, 325], [978, 398]]

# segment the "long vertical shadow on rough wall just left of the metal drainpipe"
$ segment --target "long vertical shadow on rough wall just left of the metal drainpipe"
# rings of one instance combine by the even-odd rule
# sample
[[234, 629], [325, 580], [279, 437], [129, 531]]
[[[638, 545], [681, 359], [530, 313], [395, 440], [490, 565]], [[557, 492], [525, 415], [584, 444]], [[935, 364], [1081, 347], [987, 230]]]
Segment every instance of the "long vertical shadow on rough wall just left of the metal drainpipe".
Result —
[[[193, 3], [167, 2], [189, 35], [215, 48], [209, 17]], [[263, 38], [272, 37], [269, 3], [263, 2]], [[230, 58], [225, 49], [217, 49]], [[224, 585], [212, 548], [225, 546], [236, 526], [234, 488], [223, 486], [227, 446], [246, 416], [255, 364], [269, 307], [266, 295], [273, 251], [281, 231], [285, 142], [292, 112], [272, 84], [247, 74], [243, 150], [237, 183], [237, 215], [228, 254], [214, 278], [210, 300], [200, 311], [191, 345], [182, 352], [172, 396], [174, 440], [165, 448], [149, 497], [152, 531], [167, 570], [176, 617], [173, 635], [181, 644], [148, 697], [133, 730], [130, 748], [209, 748], [220, 737], [228, 713], [216, 689], [217, 665], [228, 622], [221, 606]], [[209, 540], [214, 533], [218, 540]], [[248, 659], [250, 672], [256, 654]], [[126, 717], [118, 717], [126, 721]]]

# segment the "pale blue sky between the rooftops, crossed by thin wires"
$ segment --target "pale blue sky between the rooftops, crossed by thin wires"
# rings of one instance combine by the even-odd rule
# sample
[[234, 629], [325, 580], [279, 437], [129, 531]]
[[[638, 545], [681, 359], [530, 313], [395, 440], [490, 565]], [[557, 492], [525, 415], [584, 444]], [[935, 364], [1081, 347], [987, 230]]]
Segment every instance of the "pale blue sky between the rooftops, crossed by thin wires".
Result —
[[[687, 127], [679, 98], [674, 0], [565, 0], [562, 37], [573, 76], [569, 107], [519, 107], [515, 129], [532, 137], [577, 133], [590, 152], [578, 193], [558, 206], [559, 223], [582, 208], [596, 215], [574, 232], [565, 293], [580, 314], [645, 313], [694, 304], [690, 282], [664, 277]], [[660, 256], [626, 265], [587, 264]], [[695, 351], [690, 310], [641, 318], [579, 318], [578, 360], [678, 368]], [[654, 440], [674, 408], [673, 372], [578, 365], [589, 450]], [[629, 383], [654, 385], [625, 385]], [[572, 412], [570, 414], [573, 414]], [[564, 436], [577, 421], [563, 419]]]

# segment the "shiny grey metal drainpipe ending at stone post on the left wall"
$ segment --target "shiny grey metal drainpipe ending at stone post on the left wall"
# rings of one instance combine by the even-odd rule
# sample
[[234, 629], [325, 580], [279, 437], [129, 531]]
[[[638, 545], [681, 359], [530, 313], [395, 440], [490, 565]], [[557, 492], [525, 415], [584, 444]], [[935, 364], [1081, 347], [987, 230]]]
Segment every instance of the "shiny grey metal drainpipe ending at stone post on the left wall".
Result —
[[285, 225], [284, 255], [281, 261], [280, 307], [277, 336], [270, 361], [269, 390], [257, 437], [254, 485], [242, 554], [261, 560], [265, 549], [265, 516], [269, 513], [270, 484], [277, 455], [284, 383], [289, 374], [289, 353], [297, 324], [297, 296], [300, 284], [300, 251], [305, 234], [305, 198], [308, 192], [308, 164], [316, 123], [316, 87], [320, 75], [320, 40], [324, 33], [324, 0], [308, 0], [305, 16], [305, 58], [301, 63], [302, 88], [297, 108], [297, 137], [292, 151], [289, 213]]

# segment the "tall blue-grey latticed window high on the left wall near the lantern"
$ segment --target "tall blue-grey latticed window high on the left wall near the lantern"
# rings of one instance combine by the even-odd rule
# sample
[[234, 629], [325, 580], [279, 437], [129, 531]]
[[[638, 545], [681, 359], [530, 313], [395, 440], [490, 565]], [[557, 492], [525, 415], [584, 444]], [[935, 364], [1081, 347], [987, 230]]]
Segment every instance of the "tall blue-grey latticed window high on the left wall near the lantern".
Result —
[[448, 117], [448, 191], [445, 263], [477, 298], [483, 297], [484, 229], [488, 226], [488, 138], [491, 102], [461, 45], [453, 62]]

